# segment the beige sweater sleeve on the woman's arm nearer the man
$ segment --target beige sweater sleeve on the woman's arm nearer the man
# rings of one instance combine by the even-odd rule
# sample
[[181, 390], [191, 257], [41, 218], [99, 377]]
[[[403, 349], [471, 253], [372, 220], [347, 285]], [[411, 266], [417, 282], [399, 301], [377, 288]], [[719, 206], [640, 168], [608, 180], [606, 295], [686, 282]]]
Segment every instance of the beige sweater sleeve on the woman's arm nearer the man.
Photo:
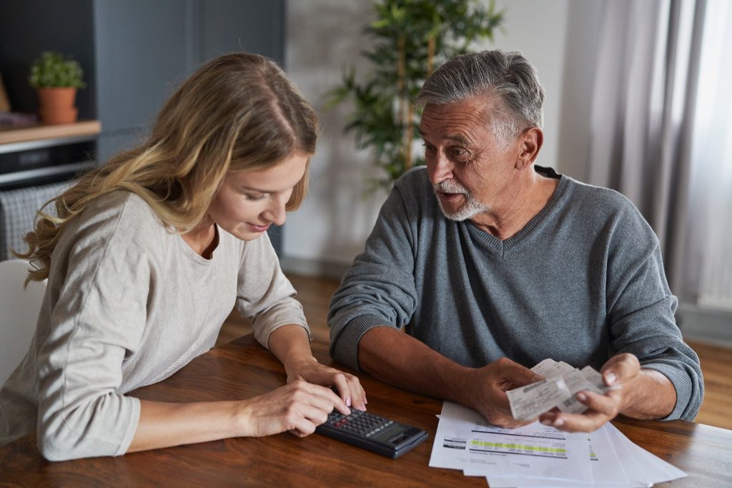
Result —
[[302, 326], [310, 336], [302, 305], [295, 289], [280, 268], [277, 253], [264, 233], [259, 239], [242, 243], [236, 308], [252, 318], [254, 337], [269, 348], [269, 334], [286, 324]]

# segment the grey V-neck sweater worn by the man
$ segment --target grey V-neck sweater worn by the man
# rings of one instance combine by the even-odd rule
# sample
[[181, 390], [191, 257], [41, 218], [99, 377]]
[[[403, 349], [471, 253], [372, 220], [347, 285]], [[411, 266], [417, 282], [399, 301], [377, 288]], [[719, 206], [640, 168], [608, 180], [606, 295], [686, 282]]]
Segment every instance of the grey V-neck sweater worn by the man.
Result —
[[692, 420], [703, 378], [676, 326], [653, 230], [618, 192], [535, 169], [559, 185], [504, 241], [445, 218], [425, 168], [397, 181], [332, 297], [332, 357], [357, 368], [359, 340], [377, 326], [406, 327], [468, 367], [505, 356], [600, 369], [632, 353], [676, 388], [667, 419]]

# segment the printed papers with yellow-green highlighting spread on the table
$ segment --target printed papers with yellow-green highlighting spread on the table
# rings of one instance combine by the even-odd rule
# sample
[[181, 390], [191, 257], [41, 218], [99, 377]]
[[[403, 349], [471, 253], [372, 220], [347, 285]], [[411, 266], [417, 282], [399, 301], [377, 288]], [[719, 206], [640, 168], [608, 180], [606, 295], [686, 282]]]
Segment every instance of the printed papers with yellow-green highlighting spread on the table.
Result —
[[491, 488], [652, 487], [687, 476], [609, 423], [590, 434], [539, 422], [501, 429], [452, 402], [442, 405], [430, 467], [483, 476]]

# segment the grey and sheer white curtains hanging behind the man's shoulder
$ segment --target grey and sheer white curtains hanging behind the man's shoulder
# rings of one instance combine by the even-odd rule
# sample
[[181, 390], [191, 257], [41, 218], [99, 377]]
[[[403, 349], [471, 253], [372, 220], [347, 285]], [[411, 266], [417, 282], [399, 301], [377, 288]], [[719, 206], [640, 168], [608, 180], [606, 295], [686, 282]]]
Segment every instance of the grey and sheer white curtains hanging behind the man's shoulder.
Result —
[[623, 0], [604, 8], [589, 181], [638, 206], [682, 300], [732, 304], [732, 45], [723, 45], [732, 6]]

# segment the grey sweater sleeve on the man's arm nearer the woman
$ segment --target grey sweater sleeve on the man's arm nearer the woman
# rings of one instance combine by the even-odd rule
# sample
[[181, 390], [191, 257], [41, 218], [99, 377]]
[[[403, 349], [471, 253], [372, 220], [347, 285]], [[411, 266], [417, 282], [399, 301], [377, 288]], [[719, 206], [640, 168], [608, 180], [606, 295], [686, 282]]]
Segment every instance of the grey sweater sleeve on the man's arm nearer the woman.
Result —
[[416, 238], [411, 223], [397, 182], [364, 252], [356, 256], [330, 301], [330, 355], [348, 367], [359, 369], [358, 345], [369, 329], [402, 329], [414, 315]]

